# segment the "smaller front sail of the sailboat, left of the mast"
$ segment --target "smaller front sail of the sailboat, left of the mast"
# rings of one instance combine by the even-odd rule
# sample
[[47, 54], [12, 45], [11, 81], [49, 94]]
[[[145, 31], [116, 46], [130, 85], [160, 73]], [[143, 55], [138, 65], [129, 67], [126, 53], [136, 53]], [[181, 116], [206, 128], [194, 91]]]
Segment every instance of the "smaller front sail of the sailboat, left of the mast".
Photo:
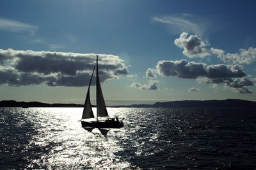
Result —
[[[95, 70], [95, 66], [93, 68], [92, 77], [93, 77], [94, 70]], [[93, 112], [92, 112], [91, 100], [90, 100], [90, 86], [91, 86], [91, 82], [92, 82], [92, 77], [90, 79], [86, 99], [85, 99], [85, 102], [84, 102], [84, 111], [83, 111], [82, 119], [94, 118]]]

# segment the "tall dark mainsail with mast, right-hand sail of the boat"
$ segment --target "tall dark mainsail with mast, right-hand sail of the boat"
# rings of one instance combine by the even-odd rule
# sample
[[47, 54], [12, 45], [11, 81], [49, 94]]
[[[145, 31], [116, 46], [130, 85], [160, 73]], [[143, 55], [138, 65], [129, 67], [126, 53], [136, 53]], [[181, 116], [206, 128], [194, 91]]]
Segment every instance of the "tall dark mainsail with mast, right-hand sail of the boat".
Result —
[[103, 94], [102, 94], [102, 90], [100, 87], [100, 78], [99, 78], [99, 69], [98, 69], [98, 56], [97, 56], [97, 68], [96, 68], [96, 75], [97, 75], [97, 79], [96, 79], [96, 86], [97, 86], [97, 92], [96, 92], [96, 98], [97, 98], [97, 120], [98, 120], [98, 116], [108, 116], [108, 111], [106, 108], [106, 104], [103, 98]]

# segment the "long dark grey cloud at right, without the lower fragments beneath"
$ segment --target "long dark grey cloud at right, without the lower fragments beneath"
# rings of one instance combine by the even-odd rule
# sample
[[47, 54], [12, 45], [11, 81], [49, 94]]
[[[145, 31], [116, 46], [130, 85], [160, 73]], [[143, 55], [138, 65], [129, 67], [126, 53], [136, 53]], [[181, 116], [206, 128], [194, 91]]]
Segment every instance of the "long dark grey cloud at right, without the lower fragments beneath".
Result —
[[205, 63], [180, 61], [159, 61], [156, 66], [157, 72], [162, 76], [177, 76], [180, 78], [196, 79], [207, 77], [209, 79], [228, 79], [233, 77], [244, 77], [239, 65], [209, 65]]

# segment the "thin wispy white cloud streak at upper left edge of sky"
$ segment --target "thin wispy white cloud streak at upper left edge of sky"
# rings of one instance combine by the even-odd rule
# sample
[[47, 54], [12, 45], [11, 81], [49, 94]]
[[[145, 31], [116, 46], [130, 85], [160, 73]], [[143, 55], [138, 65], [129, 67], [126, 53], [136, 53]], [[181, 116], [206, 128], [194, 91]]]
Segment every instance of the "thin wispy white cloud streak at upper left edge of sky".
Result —
[[16, 20], [0, 18], [0, 29], [14, 33], [28, 32], [29, 35], [33, 36], [35, 35], [35, 31], [38, 29], [38, 26], [33, 26]]

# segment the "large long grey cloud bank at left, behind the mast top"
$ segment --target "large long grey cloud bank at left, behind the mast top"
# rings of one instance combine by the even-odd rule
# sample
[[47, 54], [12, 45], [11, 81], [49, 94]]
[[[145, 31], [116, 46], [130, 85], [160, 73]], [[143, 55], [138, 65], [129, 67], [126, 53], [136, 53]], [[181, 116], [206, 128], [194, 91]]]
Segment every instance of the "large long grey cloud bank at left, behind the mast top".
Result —
[[[97, 54], [0, 49], [0, 85], [86, 86]], [[118, 56], [99, 54], [100, 81], [127, 75]]]

